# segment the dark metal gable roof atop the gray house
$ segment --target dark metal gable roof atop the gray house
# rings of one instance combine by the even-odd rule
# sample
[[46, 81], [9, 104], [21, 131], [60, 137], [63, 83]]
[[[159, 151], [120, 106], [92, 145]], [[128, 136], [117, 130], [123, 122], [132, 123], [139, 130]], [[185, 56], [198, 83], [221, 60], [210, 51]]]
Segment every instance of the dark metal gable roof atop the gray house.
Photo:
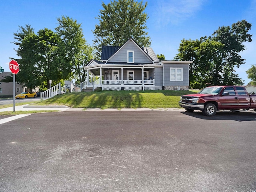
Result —
[[141, 48], [132, 38], [128, 39], [122, 46], [102, 46], [101, 60], [109, 60], [118, 50], [125, 46], [129, 41], [132, 41], [150, 60], [153, 62], [159, 62], [158, 57], [154, 53], [152, 48]]

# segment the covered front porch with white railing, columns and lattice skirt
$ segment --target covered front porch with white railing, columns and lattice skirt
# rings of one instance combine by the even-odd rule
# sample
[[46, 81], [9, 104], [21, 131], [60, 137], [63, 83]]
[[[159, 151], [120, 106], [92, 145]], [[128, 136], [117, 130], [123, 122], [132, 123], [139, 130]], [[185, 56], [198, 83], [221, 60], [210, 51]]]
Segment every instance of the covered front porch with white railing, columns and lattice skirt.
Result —
[[94, 66], [87, 69], [87, 79], [81, 83], [81, 90], [161, 90], [155, 86], [152, 66]]

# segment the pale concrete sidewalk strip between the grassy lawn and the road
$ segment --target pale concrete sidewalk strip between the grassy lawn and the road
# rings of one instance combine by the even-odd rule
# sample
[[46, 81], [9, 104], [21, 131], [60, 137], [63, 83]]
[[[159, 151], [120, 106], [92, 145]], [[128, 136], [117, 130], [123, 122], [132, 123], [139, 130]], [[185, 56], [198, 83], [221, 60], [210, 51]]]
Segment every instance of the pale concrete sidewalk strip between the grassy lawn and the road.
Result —
[[[184, 111], [184, 108], [122, 108], [122, 109], [101, 109], [101, 108], [70, 108], [68, 106], [39, 106], [39, 105], [20, 105], [15, 106], [15, 111], [40, 111], [40, 110], [57, 110], [57, 111]], [[0, 112], [13, 111], [13, 107], [2, 108]]]

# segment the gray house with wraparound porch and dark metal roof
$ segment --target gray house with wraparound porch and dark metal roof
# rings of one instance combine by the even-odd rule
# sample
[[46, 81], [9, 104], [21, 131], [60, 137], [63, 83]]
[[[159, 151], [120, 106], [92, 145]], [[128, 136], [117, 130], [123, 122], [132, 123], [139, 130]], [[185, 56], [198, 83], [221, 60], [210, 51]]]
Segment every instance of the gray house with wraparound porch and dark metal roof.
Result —
[[[123, 46], [103, 46], [101, 60], [90, 60], [81, 90], [188, 90], [190, 61], [159, 61], [152, 48], [130, 38]], [[99, 76], [96, 80], [96, 76]]]

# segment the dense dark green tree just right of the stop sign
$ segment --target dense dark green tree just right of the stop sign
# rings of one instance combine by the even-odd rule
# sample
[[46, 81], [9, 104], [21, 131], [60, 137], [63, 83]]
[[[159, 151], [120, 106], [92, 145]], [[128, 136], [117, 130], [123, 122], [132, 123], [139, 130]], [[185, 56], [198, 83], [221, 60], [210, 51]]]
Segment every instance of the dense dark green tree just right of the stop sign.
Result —
[[60, 37], [47, 28], [39, 30], [37, 35], [26, 35], [17, 55], [21, 57], [18, 59], [20, 72], [17, 79], [28, 88], [43, 87], [44, 84], [49, 88], [49, 80], [53, 81], [53, 85], [54, 82], [57, 84], [71, 72]]

